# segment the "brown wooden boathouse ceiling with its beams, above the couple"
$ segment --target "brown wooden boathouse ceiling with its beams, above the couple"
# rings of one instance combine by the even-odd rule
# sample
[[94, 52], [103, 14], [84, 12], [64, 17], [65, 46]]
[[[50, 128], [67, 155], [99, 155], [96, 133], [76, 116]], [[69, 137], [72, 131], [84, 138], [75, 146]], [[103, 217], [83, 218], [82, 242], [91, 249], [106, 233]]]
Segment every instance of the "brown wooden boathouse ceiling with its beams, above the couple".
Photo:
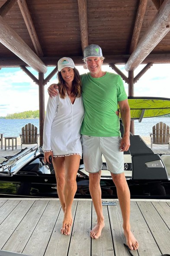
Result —
[[105, 64], [170, 63], [170, 0], [0, 0], [0, 66], [45, 73], [60, 57], [82, 65], [96, 43]]

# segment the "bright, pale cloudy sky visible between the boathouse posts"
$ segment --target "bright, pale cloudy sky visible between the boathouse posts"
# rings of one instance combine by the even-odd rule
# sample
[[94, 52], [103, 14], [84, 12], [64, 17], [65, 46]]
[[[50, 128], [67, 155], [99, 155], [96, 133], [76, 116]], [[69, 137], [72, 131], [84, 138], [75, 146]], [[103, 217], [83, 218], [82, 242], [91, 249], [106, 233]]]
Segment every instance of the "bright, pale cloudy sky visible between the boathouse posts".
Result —
[[[134, 72], [136, 76], [145, 65], [140, 65]], [[124, 65], [117, 67], [126, 75]], [[55, 67], [48, 67], [45, 77]], [[28, 68], [35, 77], [38, 72]], [[77, 66], [80, 74], [88, 72], [83, 66]], [[109, 66], [103, 65], [103, 71], [115, 73]], [[47, 88], [51, 83], [57, 83], [56, 74], [50, 82], [45, 85], [45, 109], [48, 102]], [[125, 83], [125, 90], [128, 94], [128, 85]], [[152, 96], [170, 98], [170, 64], [154, 64], [144, 73], [144, 75], [134, 84], [134, 96]], [[0, 70], [0, 116], [20, 113], [27, 110], [38, 110], [38, 85], [26, 75], [20, 68], [1, 68]]]

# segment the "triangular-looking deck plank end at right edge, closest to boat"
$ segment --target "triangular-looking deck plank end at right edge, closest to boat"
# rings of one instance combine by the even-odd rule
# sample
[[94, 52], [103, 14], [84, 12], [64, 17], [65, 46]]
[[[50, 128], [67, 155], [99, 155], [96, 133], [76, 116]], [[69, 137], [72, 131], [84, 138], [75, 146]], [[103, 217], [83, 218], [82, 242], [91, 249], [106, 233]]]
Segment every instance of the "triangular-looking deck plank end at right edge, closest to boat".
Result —
[[170, 229], [170, 203], [168, 205], [168, 203], [160, 201], [152, 202], [152, 204]]

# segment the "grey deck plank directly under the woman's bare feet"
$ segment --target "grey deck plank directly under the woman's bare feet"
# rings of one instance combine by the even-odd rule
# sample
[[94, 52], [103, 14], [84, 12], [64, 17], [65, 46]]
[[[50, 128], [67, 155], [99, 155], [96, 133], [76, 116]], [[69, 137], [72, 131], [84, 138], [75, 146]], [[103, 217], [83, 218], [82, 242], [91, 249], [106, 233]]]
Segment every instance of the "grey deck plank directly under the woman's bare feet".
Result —
[[[77, 201], [73, 201], [73, 205], [72, 205], [73, 219], [76, 213], [76, 207], [77, 207]], [[61, 234], [63, 217], [64, 217], [64, 214], [63, 214], [63, 211], [61, 210], [57, 218], [57, 221], [55, 223], [55, 228], [52, 232], [47, 249], [45, 251], [45, 256], [66, 256], [67, 255], [71, 235], [65, 236]], [[73, 225], [72, 225], [72, 228], [73, 228]], [[71, 231], [72, 231], [72, 228], [71, 228]]]

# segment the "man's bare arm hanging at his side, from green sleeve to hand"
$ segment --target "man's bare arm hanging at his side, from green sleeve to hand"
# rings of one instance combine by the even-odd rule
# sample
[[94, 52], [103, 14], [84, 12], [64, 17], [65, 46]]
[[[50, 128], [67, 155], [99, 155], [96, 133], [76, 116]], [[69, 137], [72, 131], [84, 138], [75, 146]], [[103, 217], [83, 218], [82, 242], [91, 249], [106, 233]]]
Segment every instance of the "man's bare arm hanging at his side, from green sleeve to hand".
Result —
[[119, 101], [121, 118], [124, 126], [124, 134], [120, 143], [121, 151], [128, 151], [130, 146], [130, 108], [128, 105], [128, 100]]

